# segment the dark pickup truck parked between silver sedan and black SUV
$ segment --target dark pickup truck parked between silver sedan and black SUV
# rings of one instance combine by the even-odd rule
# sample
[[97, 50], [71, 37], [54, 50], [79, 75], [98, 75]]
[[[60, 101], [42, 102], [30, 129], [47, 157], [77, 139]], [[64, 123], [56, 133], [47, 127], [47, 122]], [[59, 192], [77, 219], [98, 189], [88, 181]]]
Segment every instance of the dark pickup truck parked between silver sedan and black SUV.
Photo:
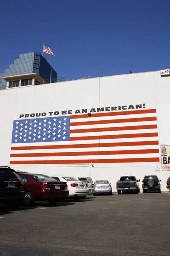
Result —
[[122, 176], [116, 183], [117, 193], [121, 194], [125, 191], [134, 190], [136, 193], [140, 192], [139, 182], [135, 176]]

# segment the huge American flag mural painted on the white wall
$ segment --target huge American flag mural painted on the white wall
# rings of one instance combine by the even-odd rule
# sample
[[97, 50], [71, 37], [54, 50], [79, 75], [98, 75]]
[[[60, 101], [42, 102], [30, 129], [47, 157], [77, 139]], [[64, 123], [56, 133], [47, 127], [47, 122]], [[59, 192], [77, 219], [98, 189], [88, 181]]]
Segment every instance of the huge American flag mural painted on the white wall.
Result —
[[156, 109], [14, 120], [10, 164], [159, 162]]

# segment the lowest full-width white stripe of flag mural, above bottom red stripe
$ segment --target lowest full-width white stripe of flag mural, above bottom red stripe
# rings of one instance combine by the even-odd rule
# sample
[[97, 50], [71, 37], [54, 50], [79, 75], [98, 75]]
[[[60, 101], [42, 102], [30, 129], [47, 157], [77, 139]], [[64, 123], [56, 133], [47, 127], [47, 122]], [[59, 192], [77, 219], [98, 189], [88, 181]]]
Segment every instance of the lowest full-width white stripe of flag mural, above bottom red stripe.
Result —
[[125, 155], [88, 155], [88, 156], [61, 156], [61, 157], [11, 157], [11, 161], [34, 161], [34, 160], [93, 160], [93, 159], [124, 159], [124, 158], [150, 158], [159, 157], [155, 154], [125, 154]]

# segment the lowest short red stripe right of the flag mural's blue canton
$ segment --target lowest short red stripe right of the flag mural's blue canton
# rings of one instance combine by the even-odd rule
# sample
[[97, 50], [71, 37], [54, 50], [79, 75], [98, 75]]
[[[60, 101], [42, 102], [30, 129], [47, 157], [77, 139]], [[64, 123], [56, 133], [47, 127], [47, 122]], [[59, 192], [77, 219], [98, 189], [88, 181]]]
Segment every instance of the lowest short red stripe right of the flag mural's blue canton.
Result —
[[99, 136], [85, 136], [85, 137], [71, 137], [73, 140], [108, 140], [108, 139], [124, 139], [124, 138], [142, 138], [142, 137], [158, 137], [157, 132], [147, 134], [117, 134], [117, 135], [99, 135]]

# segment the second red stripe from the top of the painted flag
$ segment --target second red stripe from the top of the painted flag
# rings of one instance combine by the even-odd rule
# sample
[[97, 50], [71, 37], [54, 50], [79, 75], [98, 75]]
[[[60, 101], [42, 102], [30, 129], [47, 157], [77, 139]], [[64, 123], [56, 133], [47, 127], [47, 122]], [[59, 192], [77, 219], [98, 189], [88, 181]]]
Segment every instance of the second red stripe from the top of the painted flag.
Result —
[[86, 121], [86, 122], [71, 122], [70, 126], [75, 126], [75, 125], [102, 125], [102, 124], [113, 124], [113, 123], [124, 123], [124, 122], [147, 122], [147, 121], [156, 121], [156, 116], [139, 117], [139, 118], [126, 118], [126, 119], [112, 119], [112, 120], [97, 120], [97, 121]]

